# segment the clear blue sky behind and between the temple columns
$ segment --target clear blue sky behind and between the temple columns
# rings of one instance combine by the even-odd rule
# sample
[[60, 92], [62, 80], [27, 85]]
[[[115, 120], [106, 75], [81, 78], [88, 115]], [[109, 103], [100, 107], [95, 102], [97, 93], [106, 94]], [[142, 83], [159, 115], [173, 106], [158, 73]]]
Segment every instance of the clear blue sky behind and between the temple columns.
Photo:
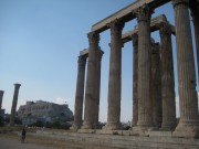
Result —
[[[20, 83], [18, 107], [27, 100], [42, 99], [66, 102], [74, 110], [77, 56], [80, 51], [88, 46], [87, 33], [91, 26], [132, 2], [134, 0], [0, 0], [0, 89], [4, 91], [2, 108], [10, 113], [13, 84]], [[174, 24], [171, 3], [155, 10], [153, 17], [163, 13]], [[127, 22], [123, 32], [132, 30], [136, 23], [136, 20]], [[105, 52], [101, 79], [102, 121], [107, 118], [109, 34], [109, 30], [101, 33], [100, 42]], [[159, 41], [158, 32], [151, 36]], [[175, 54], [175, 36], [172, 43]], [[123, 47], [122, 63], [121, 117], [122, 121], [127, 121], [132, 119], [133, 110], [132, 42]], [[176, 71], [175, 75], [177, 78]]]

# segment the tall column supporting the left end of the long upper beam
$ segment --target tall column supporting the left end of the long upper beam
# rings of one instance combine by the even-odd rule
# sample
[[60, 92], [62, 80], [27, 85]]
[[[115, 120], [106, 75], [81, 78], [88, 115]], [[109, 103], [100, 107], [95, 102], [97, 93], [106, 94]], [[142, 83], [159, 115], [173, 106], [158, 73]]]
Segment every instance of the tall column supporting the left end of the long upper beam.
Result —
[[82, 129], [92, 129], [94, 125], [94, 108], [96, 107], [96, 85], [97, 85], [97, 51], [100, 35], [96, 32], [87, 34], [90, 41], [88, 63], [85, 91], [84, 123]]

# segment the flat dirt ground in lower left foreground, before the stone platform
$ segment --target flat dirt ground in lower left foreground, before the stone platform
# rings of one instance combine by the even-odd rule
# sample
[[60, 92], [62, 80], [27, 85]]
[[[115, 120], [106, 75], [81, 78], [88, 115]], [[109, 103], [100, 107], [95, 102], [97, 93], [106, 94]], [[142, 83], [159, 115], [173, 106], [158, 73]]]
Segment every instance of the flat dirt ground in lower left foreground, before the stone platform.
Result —
[[0, 149], [118, 149], [87, 145], [83, 142], [70, 142], [52, 140], [50, 138], [36, 138], [27, 136], [25, 142], [21, 143], [17, 134], [0, 134]]

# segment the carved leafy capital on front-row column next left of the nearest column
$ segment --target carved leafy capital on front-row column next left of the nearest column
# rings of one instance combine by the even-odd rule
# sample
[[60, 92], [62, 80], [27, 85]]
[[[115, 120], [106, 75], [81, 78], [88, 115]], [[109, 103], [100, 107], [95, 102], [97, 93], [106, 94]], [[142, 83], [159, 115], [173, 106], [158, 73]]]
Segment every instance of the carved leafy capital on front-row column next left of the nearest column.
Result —
[[134, 13], [137, 17], [138, 22], [150, 20], [151, 12], [153, 12], [151, 9], [147, 4], [145, 4], [134, 11]]

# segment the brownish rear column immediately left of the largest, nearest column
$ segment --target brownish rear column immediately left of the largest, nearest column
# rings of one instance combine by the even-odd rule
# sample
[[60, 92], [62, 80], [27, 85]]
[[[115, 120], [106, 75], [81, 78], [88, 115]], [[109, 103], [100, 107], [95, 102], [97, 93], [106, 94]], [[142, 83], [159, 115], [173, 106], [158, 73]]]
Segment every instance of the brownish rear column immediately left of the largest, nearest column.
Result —
[[176, 128], [176, 102], [171, 28], [169, 23], [160, 24], [160, 49], [161, 49], [161, 99], [163, 99], [163, 124], [161, 130], [174, 130]]

